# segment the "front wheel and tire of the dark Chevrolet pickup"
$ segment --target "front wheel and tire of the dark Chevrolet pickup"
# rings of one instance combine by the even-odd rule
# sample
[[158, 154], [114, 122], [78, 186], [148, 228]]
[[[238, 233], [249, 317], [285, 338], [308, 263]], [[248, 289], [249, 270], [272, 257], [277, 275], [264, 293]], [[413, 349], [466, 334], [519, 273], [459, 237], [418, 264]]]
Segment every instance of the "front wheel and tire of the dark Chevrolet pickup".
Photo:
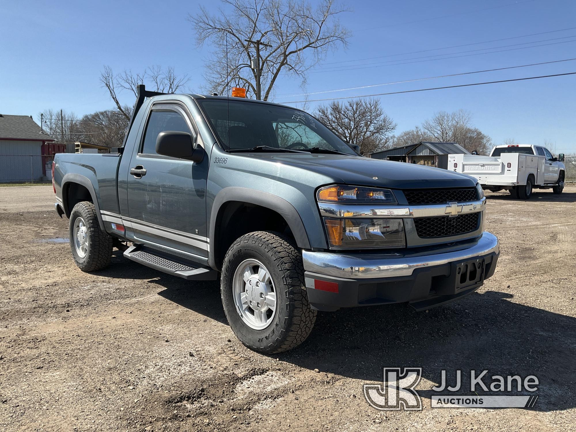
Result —
[[316, 320], [304, 285], [302, 255], [279, 233], [258, 231], [234, 241], [222, 265], [221, 294], [230, 328], [260, 353], [297, 347]]

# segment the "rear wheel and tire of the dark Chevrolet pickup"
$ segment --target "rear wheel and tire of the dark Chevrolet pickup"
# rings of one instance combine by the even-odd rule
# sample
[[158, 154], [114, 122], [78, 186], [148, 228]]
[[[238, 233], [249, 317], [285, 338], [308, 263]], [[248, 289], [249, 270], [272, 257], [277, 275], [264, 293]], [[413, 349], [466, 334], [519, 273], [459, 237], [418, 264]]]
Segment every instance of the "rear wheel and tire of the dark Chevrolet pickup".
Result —
[[107, 267], [112, 257], [112, 237], [100, 229], [96, 208], [88, 201], [79, 202], [70, 213], [70, 249], [82, 271]]

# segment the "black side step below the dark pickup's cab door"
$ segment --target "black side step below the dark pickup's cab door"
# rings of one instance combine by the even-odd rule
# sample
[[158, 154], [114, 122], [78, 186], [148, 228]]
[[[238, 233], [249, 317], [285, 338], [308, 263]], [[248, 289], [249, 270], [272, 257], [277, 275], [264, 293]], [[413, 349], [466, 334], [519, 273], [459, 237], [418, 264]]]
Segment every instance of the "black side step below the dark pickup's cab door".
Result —
[[218, 273], [210, 267], [185, 260], [181, 257], [134, 245], [124, 251], [124, 256], [146, 267], [155, 268], [169, 275], [188, 279], [188, 281], [215, 281]]

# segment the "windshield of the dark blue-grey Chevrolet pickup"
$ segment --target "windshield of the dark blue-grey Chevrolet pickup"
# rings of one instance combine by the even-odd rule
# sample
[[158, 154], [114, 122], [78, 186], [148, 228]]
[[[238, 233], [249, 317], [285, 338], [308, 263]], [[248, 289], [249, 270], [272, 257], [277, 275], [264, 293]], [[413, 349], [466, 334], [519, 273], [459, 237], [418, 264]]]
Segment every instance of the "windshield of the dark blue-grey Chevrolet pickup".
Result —
[[225, 150], [338, 151], [357, 156], [308, 113], [293, 108], [225, 99], [198, 99]]

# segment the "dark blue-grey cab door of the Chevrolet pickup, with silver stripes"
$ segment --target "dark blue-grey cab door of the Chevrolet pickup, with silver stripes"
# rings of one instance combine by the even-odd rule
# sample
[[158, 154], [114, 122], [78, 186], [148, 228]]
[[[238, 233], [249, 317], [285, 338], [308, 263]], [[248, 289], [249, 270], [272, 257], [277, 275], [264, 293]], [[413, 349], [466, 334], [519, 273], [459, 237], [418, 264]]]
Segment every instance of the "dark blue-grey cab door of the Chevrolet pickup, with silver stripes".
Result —
[[[199, 164], [156, 153], [162, 131], [198, 130], [183, 105], [153, 104], [128, 168], [128, 218], [133, 241], [208, 256], [206, 179], [209, 158]], [[200, 143], [200, 145], [202, 145]]]

